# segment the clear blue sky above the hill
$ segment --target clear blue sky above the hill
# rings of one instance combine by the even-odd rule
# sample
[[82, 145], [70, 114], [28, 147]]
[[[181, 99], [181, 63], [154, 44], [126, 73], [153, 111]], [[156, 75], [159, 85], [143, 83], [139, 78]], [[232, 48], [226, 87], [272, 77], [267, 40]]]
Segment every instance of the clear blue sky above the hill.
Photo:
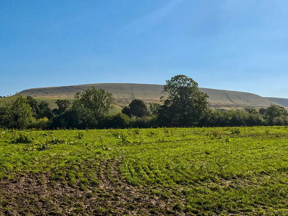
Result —
[[90, 83], [288, 98], [287, 0], [0, 1], [0, 95]]

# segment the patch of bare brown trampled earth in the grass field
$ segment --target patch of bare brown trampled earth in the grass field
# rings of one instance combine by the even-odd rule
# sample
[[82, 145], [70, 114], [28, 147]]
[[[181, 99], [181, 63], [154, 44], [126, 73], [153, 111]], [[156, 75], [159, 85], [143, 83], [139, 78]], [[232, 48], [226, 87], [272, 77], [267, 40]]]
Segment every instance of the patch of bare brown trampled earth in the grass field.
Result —
[[173, 209], [175, 200], [128, 185], [118, 173], [117, 162], [109, 172], [107, 164], [103, 166], [99, 186], [85, 191], [50, 181], [50, 173], [1, 180], [0, 215], [185, 215]]

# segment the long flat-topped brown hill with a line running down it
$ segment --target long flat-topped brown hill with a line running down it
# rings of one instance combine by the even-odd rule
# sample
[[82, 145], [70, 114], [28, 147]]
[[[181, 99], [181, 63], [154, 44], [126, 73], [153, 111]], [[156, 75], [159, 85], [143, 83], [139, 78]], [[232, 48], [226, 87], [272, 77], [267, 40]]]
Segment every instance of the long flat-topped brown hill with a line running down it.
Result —
[[[162, 96], [163, 85], [154, 84], [130, 84], [130, 83], [101, 83], [101, 84], [85, 84], [75, 86], [60, 86], [47, 88], [31, 88], [19, 92], [23, 96], [33, 96], [39, 99], [56, 101], [58, 98], [73, 99], [76, 92], [84, 91], [87, 88], [104, 88], [112, 92], [116, 104], [123, 107], [129, 104], [133, 99], [141, 99], [146, 103], [159, 102]], [[200, 91], [209, 95], [209, 105], [213, 108], [244, 108], [253, 106], [256, 108], [268, 107], [271, 103], [281, 105], [277, 101], [271, 101], [268, 98], [261, 97], [257, 94], [247, 92], [236, 92], [228, 90], [218, 90], [210, 88], [199, 88]], [[277, 98], [281, 99], [281, 98]], [[288, 101], [288, 99], [285, 99]], [[283, 105], [288, 107], [288, 103]]]

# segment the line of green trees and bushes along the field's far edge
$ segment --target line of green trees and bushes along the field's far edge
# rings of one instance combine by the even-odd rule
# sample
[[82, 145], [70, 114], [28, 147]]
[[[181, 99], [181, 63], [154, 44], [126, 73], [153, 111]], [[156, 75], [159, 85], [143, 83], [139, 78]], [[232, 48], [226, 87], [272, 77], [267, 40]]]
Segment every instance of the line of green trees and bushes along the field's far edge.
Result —
[[198, 84], [184, 75], [166, 80], [161, 103], [147, 105], [133, 100], [121, 113], [111, 115], [115, 99], [104, 89], [87, 89], [75, 94], [73, 103], [57, 100], [51, 110], [45, 101], [33, 97], [9, 96], [0, 101], [2, 128], [150, 128], [150, 127], [212, 127], [212, 126], [282, 126], [288, 125], [284, 107], [270, 105], [259, 110], [217, 111], [208, 107], [208, 95]]

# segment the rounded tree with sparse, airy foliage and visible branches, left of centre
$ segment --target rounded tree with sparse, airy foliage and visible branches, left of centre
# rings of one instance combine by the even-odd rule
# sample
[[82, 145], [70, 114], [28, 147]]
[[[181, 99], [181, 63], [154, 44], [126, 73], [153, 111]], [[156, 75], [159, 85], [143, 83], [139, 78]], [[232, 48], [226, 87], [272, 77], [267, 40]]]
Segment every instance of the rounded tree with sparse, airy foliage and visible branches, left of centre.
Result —
[[115, 99], [111, 92], [107, 92], [103, 88], [92, 87], [75, 94], [72, 112], [77, 117], [79, 124], [95, 125], [101, 118], [108, 115], [114, 105]]

